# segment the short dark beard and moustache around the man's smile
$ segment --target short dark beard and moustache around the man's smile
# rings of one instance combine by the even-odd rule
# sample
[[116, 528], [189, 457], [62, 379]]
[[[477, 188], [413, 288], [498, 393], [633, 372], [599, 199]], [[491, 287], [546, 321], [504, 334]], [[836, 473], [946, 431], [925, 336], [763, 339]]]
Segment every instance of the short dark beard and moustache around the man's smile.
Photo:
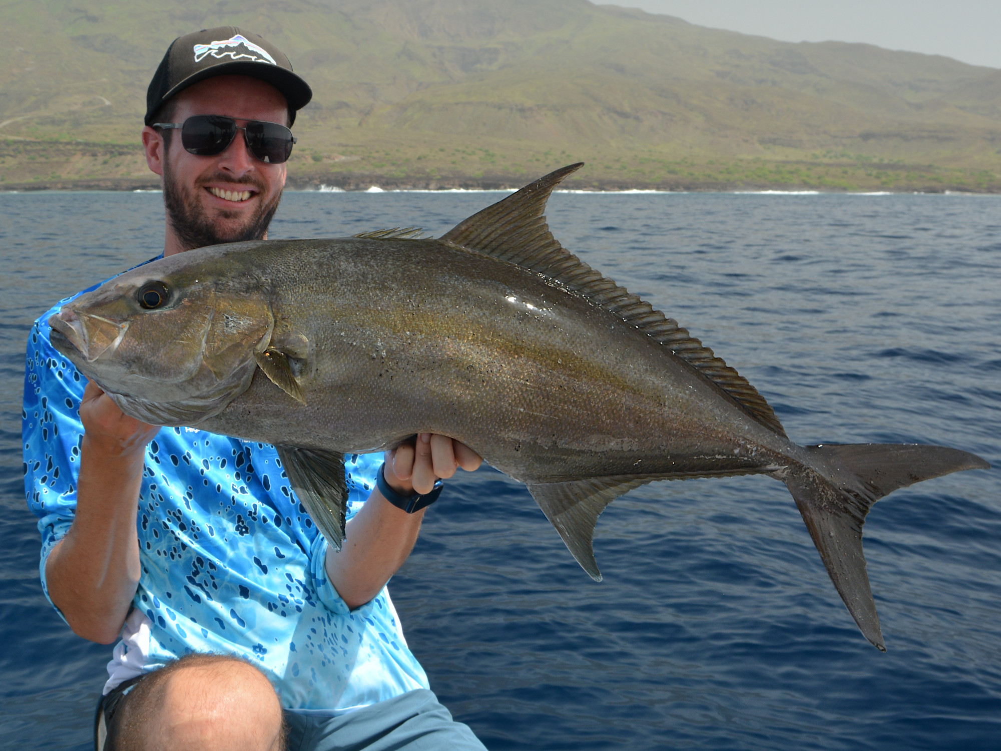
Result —
[[[222, 242], [264, 239], [268, 224], [271, 223], [271, 217], [278, 210], [281, 191], [275, 193], [270, 202], [258, 203], [255, 211], [246, 216], [240, 224], [233, 225], [230, 222], [224, 223], [210, 218], [205, 207], [198, 200], [198, 193], [203, 190], [201, 185], [212, 181], [229, 183], [234, 186], [247, 185], [256, 188], [257, 195], [264, 195], [267, 191], [267, 184], [263, 180], [250, 177], [233, 180], [221, 172], [199, 178], [193, 186], [186, 186], [175, 179], [169, 160], [165, 161], [163, 164], [163, 205], [166, 208], [167, 221], [170, 222], [170, 226], [173, 227], [174, 233], [185, 249], [218, 245]], [[231, 220], [238, 218], [242, 212], [223, 209], [217, 213], [219, 218]]]

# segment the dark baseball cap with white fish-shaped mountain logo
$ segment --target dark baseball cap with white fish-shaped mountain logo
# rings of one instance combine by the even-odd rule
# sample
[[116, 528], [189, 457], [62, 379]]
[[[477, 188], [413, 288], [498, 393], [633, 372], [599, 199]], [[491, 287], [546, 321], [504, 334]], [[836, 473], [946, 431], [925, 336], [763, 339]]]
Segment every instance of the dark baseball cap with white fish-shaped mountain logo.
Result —
[[221, 75], [244, 75], [266, 81], [288, 102], [288, 117], [312, 98], [312, 89], [292, 72], [285, 54], [259, 34], [235, 26], [217, 26], [177, 37], [167, 48], [146, 90], [147, 125], [165, 101], [188, 86]]

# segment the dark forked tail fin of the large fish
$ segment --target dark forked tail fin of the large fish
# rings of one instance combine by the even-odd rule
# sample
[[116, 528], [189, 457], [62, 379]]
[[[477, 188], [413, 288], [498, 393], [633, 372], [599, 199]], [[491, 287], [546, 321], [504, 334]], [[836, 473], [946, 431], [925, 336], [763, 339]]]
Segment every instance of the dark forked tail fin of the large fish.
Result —
[[862, 526], [883, 496], [922, 480], [961, 470], [988, 469], [973, 454], [942, 446], [854, 444], [808, 446], [825, 473], [790, 468], [793, 494], [827, 573], [863, 636], [886, 652], [862, 553]]

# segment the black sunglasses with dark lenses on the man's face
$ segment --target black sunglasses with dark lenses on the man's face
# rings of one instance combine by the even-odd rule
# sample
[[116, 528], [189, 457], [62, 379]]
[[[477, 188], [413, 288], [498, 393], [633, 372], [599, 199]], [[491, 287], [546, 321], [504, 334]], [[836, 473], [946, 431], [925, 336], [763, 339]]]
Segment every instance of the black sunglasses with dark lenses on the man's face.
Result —
[[245, 126], [239, 126], [232, 117], [222, 115], [193, 115], [184, 122], [154, 122], [153, 127], [180, 128], [184, 150], [198, 156], [221, 154], [233, 142], [236, 131], [242, 130], [250, 153], [269, 164], [286, 161], [297, 140], [280, 123], [247, 120]]

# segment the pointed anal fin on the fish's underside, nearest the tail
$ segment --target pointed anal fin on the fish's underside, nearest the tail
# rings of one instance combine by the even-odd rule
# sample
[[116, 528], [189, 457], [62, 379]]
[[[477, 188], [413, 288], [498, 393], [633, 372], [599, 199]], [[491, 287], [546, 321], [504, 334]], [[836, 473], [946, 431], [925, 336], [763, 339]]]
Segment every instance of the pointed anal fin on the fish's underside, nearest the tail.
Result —
[[651, 483], [653, 477], [614, 477], [529, 485], [546, 518], [553, 523], [567, 548], [596, 582], [602, 581], [592, 540], [598, 517], [624, 493]]

